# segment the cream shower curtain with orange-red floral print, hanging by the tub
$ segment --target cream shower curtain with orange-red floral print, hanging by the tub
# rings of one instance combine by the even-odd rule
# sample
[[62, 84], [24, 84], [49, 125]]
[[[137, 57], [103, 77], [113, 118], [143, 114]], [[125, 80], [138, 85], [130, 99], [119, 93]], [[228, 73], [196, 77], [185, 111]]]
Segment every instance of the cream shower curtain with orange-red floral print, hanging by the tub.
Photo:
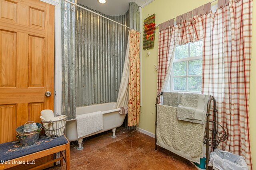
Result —
[[129, 30], [129, 96], [128, 126], [139, 124], [140, 118], [140, 33]]

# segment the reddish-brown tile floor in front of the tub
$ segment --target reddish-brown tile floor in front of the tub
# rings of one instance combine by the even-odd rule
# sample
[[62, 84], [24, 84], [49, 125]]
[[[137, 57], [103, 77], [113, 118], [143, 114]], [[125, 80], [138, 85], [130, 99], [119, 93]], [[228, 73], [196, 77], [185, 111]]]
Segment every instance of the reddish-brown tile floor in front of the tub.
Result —
[[[158, 146], [155, 139], [136, 130], [123, 127], [87, 137], [83, 150], [76, 150], [78, 144], [70, 143], [71, 170], [197, 170], [177, 155]], [[55, 166], [50, 170], [65, 170]]]

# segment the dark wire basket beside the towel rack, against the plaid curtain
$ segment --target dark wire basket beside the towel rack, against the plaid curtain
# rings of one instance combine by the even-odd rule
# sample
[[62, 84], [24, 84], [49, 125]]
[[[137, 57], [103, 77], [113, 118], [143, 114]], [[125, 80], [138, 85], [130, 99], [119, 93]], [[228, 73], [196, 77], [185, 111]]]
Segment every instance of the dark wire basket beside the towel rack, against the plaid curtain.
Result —
[[[217, 148], [218, 145], [221, 143], [221, 142], [224, 142], [228, 139], [228, 136], [229, 134], [226, 133], [224, 127], [222, 127], [222, 125], [220, 125], [220, 123], [217, 123], [215, 121], [210, 121], [211, 123], [216, 123], [217, 125], [217, 128], [216, 129], [221, 129], [221, 131], [218, 131], [216, 132], [216, 139], [214, 139], [214, 132], [212, 129], [209, 129], [211, 131], [211, 135], [210, 135], [210, 140], [209, 140], [209, 146], [210, 147], [213, 147], [213, 148]], [[220, 127], [220, 128], [219, 128]], [[204, 144], [206, 144], [207, 142], [207, 138], [206, 138], [206, 131], [204, 133]]]

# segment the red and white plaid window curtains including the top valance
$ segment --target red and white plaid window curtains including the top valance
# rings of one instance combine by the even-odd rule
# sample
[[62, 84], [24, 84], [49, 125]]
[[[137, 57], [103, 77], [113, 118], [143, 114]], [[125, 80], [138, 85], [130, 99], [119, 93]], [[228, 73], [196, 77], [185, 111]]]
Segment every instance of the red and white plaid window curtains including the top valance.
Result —
[[[249, 80], [252, 38], [252, 0], [218, 0], [218, 9], [212, 12], [210, 3], [190, 14], [177, 17], [175, 44], [203, 39], [202, 94], [216, 98], [218, 123], [230, 134], [222, 150], [243, 156], [248, 168], [252, 169], [249, 135]], [[193, 11], [194, 13], [194, 11]], [[178, 30], [176, 30], [178, 29]], [[163, 32], [164, 33], [164, 32]], [[162, 33], [161, 33], [162, 34]], [[170, 47], [167, 57], [161, 55], [163, 42], [159, 38], [158, 80], [165, 84], [172, 67], [175, 45]], [[165, 77], [164, 79], [162, 77]], [[163, 85], [158, 83], [158, 92]]]

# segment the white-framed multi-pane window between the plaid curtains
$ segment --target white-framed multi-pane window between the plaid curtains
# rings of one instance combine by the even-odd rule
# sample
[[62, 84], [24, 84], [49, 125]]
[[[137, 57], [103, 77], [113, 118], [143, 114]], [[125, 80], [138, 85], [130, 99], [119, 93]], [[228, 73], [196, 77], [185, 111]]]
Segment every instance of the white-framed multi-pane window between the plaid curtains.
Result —
[[202, 86], [202, 40], [176, 45], [171, 91], [201, 92]]

